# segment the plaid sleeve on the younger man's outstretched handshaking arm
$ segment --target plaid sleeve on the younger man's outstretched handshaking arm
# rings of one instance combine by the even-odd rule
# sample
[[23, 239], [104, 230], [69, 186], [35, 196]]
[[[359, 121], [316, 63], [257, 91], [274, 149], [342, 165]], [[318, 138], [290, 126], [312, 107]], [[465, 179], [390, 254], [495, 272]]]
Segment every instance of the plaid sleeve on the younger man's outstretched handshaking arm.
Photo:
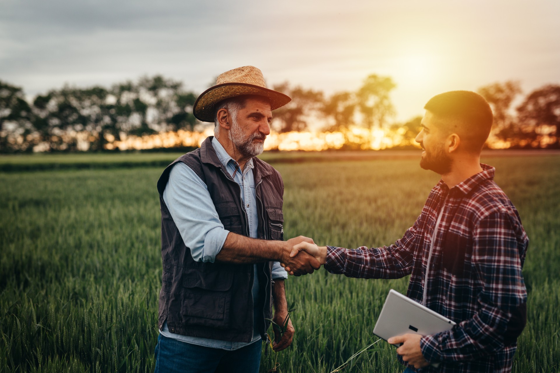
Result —
[[330, 273], [360, 278], [401, 278], [410, 275], [417, 232], [418, 220], [404, 233], [403, 238], [390, 246], [362, 246], [355, 250], [328, 246], [325, 269]]

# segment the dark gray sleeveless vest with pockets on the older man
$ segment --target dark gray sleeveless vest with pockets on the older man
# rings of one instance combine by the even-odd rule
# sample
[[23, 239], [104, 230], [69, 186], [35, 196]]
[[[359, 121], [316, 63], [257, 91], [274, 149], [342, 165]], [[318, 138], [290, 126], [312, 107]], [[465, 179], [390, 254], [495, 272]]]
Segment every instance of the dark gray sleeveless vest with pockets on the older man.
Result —
[[[162, 286], [158, 326], [165, 320], [172, 333], [184, 336], [249, 342], [253, 337], [253, 264], [195, 262], [163, 199], [171, 168], [178, 162], [189, 166], [206, 183], [224, 228], [249, 236], [241, 188], [228, 174], [212, 147], [212, 136], [202, 146], [176, 159], [157, 182], [161, 207]], [[269, 164], [253, 158], [256, 200], [259, 209], [258, 238], [282, 240], [282, 177]], [[272, 262], [258, 263], [259, 283], [264, 300], [262, 314], [255, 314], [264, 338], [272, 318]]]

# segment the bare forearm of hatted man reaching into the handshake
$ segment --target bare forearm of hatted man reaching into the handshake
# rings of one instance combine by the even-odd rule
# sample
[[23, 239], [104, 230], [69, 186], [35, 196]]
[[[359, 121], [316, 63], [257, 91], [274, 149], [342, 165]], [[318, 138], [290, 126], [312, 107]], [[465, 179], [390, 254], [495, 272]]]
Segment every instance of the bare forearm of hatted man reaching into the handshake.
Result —
[[230, 232], [216, 255], [216, 261], [235, 264], [281, 261], [290, 249], [284, 241], [249, 238]]

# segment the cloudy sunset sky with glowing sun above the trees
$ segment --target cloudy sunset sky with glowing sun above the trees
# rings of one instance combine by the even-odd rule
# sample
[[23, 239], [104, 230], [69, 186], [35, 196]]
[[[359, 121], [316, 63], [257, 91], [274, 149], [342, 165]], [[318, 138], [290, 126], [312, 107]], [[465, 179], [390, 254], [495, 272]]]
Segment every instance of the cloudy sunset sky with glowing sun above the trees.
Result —
[[0, 1], [0, 79], [29, 95], [242, 65], [326, 93], [390, 75], [398, 120], [433, 95], [560, 83], [560, 1]]

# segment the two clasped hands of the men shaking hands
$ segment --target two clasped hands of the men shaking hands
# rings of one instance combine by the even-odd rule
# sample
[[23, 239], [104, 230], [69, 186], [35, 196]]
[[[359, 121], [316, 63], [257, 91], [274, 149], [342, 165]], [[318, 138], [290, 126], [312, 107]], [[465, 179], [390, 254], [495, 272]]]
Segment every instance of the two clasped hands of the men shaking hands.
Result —
[[291, 238], [286, 241], [279, 262], [290, 275], [313, 273], [326, 262], [326, 246], [319, 247], [309, 237]]

